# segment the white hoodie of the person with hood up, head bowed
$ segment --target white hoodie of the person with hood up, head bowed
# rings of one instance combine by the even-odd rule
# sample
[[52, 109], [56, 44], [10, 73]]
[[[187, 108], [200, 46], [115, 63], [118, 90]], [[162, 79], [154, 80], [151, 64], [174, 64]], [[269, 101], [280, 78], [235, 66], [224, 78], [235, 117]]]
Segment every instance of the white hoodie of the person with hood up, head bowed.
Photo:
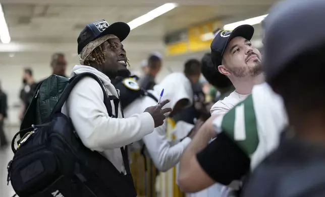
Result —
[[[174, 108], [176, 103], [182, 99], [190, 101], [192, 105], [193, 90], [190, 80], [183, 73], [172, 73], [166, 76], [163, 81], [153, 87], [153, 90], [148, 90], [157, 99], [160, 92], [164, 90], [164, 95], [161, 101], [169, 99], [171, 102], [165, 105], [164, 108]], [[143, 112], [147, 107], [156, 105], [157, 103], [149, 96], [143, 96], [132, 102], [125, 110], [125, 117], [130, 117], [134, 114]], [[166, 114], [167, 115], [167, 114]], [[180, 143], [171, 146], [167, 136], [167, 123], [154, 129], [151, 134], [142, 138], [146, 148], [150, 154], [150, 158], [160, 171], [167, 171], [174, 167], [180, 160], [184, 149], [191, 142], [190, 138], [185, 138]], [[174, 132], [174, 131], [173, 131]]]

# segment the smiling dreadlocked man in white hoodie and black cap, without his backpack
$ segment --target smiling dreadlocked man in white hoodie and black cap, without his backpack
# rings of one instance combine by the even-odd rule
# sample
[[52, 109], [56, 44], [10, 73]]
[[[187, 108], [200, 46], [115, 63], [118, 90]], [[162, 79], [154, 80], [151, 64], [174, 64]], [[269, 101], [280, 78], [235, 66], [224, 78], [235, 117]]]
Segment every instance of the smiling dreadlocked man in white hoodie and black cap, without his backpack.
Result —
[[[81, 65], [76, 65], [71, 77], [91, 72], [101, 80], [111, 97], [119, 97], [119, 91], [112, 84], [117, 76], [129, 76], [128, 59], [121, 43], [129, 34], [126, 23], [109, 25], [100, 20], [88, 24], [78, 37], [78, 54]], [[115, 102], [114, 102], [115, 103]], [[121, 104], [113, 105], [112, 112], [118, 118], [109, 117], [103, 103], [100, 85], [91, 77], [85, 77], [74, 87], [66, 102], [63, 113], [68, 115], [83, 144], [104, 155], [122, 173], [125, 173], [120, 147], [140, 140], [155, 127], [164, 123], [165, 113], [161, 109], [169, 103], [165, 100], [149, 107], [142, 114], [123, 119]], [[118, 105], [118, 106], [117, 106]]]

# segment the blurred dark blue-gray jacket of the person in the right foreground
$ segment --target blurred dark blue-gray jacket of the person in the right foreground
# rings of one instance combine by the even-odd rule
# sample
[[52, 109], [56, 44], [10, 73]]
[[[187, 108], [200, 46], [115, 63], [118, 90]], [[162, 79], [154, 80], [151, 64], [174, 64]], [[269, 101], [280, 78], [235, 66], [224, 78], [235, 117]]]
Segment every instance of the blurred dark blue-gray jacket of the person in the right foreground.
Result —
[[325, 196], [325, 148], [288, 139], [251, 174], [244, 197]]

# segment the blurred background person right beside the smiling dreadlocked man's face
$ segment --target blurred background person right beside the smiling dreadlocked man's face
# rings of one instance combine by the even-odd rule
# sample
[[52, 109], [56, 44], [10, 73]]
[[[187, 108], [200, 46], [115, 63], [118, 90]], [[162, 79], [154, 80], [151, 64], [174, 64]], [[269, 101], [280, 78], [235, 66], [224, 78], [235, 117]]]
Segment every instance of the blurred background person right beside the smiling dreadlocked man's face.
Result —
[[139, 85], [143, 89], [152, 89], [156, 84], [155, 77], [161, 69], [162, 60], [158, 54], [151, 54], [148, 58], [147, 73], [139, 79]]

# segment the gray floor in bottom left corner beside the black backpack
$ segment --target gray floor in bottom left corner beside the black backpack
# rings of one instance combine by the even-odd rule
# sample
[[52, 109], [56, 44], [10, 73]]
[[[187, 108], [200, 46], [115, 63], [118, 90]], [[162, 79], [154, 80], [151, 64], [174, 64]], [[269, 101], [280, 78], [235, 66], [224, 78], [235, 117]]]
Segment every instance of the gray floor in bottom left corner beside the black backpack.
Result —
[[[19, 131], [18, 127], [5, 128], [7, 139], [11, 142], [15, 133]], [[11, 150], [11, 146], [5, 149], [0, 149], [0, 197], [12, 197], [15, 194], [11, 184], [7, 185], [7, 165], [13, 158], [14, 154]]]

